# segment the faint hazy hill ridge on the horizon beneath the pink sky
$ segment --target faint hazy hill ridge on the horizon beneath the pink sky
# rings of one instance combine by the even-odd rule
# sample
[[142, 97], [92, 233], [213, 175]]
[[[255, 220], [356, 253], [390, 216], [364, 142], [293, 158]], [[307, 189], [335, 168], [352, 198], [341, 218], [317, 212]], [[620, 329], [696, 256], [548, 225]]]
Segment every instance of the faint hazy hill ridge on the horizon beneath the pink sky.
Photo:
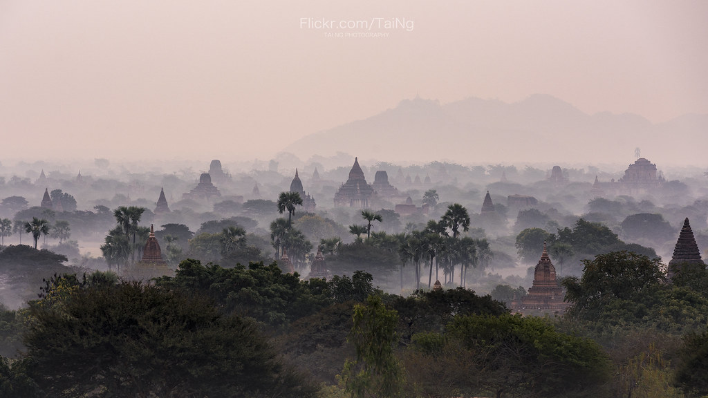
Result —
[[657, 164], [663, 159], [695, 164], [707, 146], [708, 115], [653, 124], [630, 113], [588, 115], [553, 96], [535, 94], [517, 103], [404, 100], [370, 118], [303, 137], [284, 150], [301, 159], [347, 152], [384, 161], [629, 164], [639, 147]]

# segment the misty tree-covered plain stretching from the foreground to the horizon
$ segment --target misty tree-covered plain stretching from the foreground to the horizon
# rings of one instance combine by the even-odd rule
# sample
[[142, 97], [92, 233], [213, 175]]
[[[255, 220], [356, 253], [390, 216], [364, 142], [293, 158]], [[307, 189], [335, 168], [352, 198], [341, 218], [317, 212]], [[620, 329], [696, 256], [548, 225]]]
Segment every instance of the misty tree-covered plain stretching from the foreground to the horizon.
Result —
[[[282, 154], [210, 170], [219, 191], [211, 198], [198, 188], [203, 164], [167, 170], [101, 162], [82, 167], [80, 180], [63, 166], [43, 167], [42, 181], [36, 171], [2, 169], [0, 353], [11, 359], [0, 362], [0, 381], [11, 380], [2, 385], [12, 385], [12, 394], [704, 391], [705, 270], [682, 268], [666, 282], [686, 217], [706, 258], [703, 170], [670, 169], [664, 185], [629, 190], [619, 183], [626, 166], [565, 166], [554, 180], [543, 164], [362, 160], [367, 183], [385, 171], [396, 191], [379, 188], [364, 207], [335, 207], [351, 169], [341, 155], [301, 163]], [[309, 210], [300, 193], [287, 191], [296, 167], [316, 200]], [[59, 206], [42, 205], [45, 188]], [[161, 191], [169, 210], [156, 203]], [[141, 266], [151, 227], [164, 268], [161, 277], [138, 281], [127, 271]], [[571, 306], [547, 319], [510, 314], [528, 294], [530, 266], [544, 246]], [[309, 278], [321, 261], [324, 279]], [[104, 333], [100, 313], [120, 319], [115, 336], [135, 322], [142, 329], [120, 341]], [[84, 329], [60, 325], [67, 316]], [[375, 336], [372, 325], [386, 333]], [[524, 343], [530, 340], [538, 343]], [[200, 351], [205, 341], [231, 348]], [[175, 345], [212, 368], [181, 368], [165, 348]], [[254, 347], [252, 356], [239, 353], [246, 347]], [[387, 354], [370, 355], [376, 347]], [[560, 348], [549, 353], [553, 347]], [[102, 362], [105, 352], [137, 359], [120, 368]], [[82, 382], [78, 372], [93, 372], [83, 366], [96, 363], [76, 356], [96, 356], [101, 377]], [[239, 370], [236, 356], [262, 372]], [[182, 377], [156, 370], [172, 361]], [[539, 370], [548, 361], [558, 367]], [[56, 366], [74, 362], [74, 373]], [[215, 369], [241, 382], [215, 380]], [[126, 381], [136, 374], [142, 384]], [[580, 385], [564, 382], [578, 374], [586, 375]], [[381, 380], [397, 382], [384, 388]], [[258, 390], [263, 383], [270, 390]]]

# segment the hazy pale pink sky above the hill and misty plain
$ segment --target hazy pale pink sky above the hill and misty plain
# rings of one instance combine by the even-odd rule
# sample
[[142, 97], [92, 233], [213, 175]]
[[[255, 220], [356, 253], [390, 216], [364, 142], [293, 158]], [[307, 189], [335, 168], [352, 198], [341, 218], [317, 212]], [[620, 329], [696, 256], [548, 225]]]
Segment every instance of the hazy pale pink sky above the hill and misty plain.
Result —
[[0, 0], [0, 161], [264, 159], [416, 95], [656, 123], [707, 71], [708, 1]]

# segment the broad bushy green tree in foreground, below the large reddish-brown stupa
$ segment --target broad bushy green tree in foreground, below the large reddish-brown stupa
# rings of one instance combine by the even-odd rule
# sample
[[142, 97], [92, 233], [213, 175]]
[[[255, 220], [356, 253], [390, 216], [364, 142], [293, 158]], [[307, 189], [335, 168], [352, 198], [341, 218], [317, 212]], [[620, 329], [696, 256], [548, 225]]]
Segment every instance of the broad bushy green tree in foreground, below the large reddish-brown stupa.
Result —
[[610, 380], [610, 362], [598, 343], [559, 333], [541, 318], [458, 316], [447, 336], [481, 358], [480, 387], [498, 398], [587, 397]]

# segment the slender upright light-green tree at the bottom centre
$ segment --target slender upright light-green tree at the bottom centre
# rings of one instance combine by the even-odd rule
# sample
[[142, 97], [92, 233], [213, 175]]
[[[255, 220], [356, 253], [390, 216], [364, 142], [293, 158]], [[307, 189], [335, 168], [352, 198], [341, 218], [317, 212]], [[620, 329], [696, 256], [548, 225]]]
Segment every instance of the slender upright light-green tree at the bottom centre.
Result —
[[386, 309], [381, 297], [370, 296], [364, 305], [355, 305], [353, 319], [348, 340], [355, 359], [342, 370], [346, 390], [356, 398], [401, 397], [404, 368], [394, 355], [398, 314]]

